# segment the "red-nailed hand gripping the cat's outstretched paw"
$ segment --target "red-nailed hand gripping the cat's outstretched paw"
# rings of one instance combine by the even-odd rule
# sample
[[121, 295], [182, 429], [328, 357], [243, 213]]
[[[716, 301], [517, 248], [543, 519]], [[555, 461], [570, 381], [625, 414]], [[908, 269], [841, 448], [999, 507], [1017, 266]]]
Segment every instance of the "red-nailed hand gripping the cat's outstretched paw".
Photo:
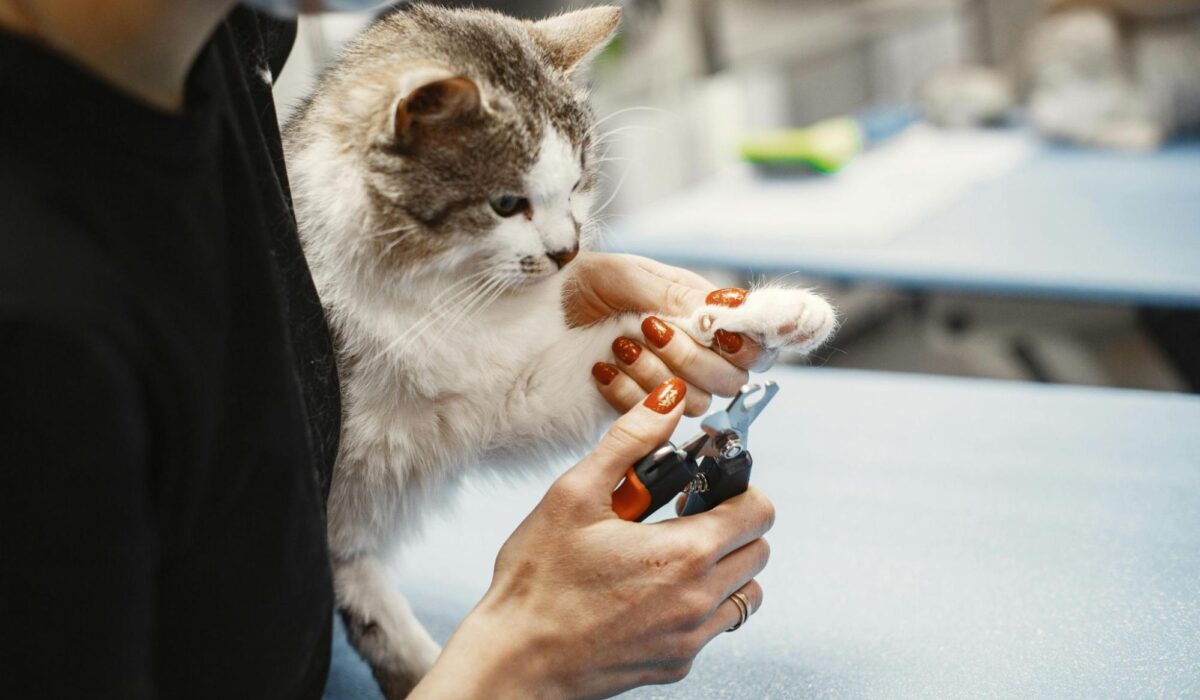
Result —
[[[714, 303], [708, 298], [716, 292], [695, 273], [637, 256], [581, 253], [572, 267], [563, 305], [568, 322], [575, 325], [622, 312], [688, 316]], [[745, 295], [742, 289], [724, 292], [714, 300], [733, 305], [740, 303], [738, 292]], [[746, 370], [762, 369], [762, 348], [743, 335], [719, 331], [716, 347], [708, 348], [652, 317], [642, 324], [642, 337], [613, 339], [613, 361], [598, 364], [593, 376], [600, 394], [620, 412], [667, 377], [682, 377], [689, 384], [685, 413], [700, 415], [713, 394], [736, 394], [746, 383]]]

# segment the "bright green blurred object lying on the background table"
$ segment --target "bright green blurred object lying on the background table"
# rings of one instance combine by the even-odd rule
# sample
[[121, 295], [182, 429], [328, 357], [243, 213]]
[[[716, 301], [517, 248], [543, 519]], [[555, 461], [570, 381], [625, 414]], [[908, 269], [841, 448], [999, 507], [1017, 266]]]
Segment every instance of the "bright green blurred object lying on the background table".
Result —
[[865, 144], [858, 120], [840, 116], [805, 128], [749, 134], [742, 140], [742, 157], [761, 166], [808, 166], [834, 173], [863, 152]]

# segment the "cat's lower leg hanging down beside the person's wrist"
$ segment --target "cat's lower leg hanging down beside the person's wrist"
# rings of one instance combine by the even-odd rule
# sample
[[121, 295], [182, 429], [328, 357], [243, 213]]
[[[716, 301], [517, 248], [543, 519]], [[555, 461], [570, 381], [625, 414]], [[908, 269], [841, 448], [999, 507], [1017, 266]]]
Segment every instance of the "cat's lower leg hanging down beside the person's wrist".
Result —
[[382, 558], [335, 561], [334, 586], [350, 645], [371, 665], [389, 700], [406, 698], [442, 647], [416, 620]]

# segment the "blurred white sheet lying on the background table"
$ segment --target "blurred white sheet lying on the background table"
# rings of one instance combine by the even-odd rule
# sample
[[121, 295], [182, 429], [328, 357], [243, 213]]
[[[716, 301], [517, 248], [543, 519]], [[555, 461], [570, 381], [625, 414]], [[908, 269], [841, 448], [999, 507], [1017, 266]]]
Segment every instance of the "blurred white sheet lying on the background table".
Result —
[[1033, 155], [1024, 131], [914, 125], [834, 175], [762, 178], [739, 166], [634, 214], [634, 238], [880, 241]]

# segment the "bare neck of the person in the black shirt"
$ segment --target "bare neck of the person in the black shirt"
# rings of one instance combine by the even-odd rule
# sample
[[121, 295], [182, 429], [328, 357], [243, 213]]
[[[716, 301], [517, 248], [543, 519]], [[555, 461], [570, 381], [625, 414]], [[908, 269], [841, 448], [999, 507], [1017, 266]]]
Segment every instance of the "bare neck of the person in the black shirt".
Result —
[[234, 0], [0, 0], [0, 28], [82, 64], [166, 112]]

